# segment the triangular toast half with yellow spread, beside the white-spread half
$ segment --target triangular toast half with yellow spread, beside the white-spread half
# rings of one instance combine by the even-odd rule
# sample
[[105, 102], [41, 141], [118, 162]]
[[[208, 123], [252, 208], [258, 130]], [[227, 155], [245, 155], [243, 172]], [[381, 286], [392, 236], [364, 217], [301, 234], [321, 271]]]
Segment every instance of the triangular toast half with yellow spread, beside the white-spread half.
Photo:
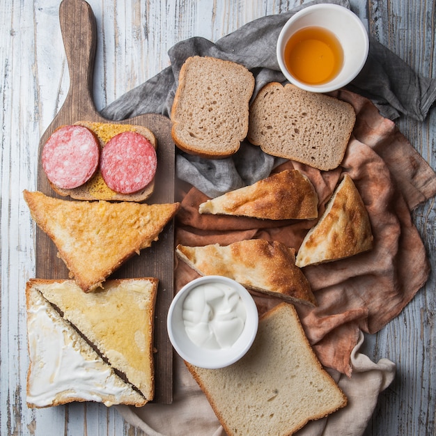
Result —
[[107, 281], [84, 293], [72, 280], [29, 281], [100, 356], [146, 400], [154, 395], [153, 326], [157, 279]]

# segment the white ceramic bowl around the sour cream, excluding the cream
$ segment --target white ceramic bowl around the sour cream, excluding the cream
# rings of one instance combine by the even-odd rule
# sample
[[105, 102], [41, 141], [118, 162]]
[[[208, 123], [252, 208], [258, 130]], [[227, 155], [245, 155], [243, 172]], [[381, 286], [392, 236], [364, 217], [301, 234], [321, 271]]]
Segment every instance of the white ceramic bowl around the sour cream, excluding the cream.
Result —
[[[244, 304], [247, 318], [242, 333], [230, 348], [203, 348], [197, 346], [187, 336], [182, 318], [183, 302], [194, 288], [205, 283], [223, 283], [224, 285], [231, 286], [231, 288], [238, 292], [242, 299], [242, 304]], [[258, 329], [258, 311], [253, 297], [240, 283], [227, 277], [205, 276], [187, 283], [176, 294], [169, 308], [166, 327], [170, 341], [182, 359], [201, 368], [224, 368], [224, 366], [238, 361], [251, 347]]]

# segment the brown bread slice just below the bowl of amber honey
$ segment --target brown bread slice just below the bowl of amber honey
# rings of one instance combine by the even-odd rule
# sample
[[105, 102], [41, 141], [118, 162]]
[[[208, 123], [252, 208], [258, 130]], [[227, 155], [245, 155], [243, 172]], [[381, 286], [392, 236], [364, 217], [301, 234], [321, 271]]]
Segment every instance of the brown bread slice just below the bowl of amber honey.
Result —
[[348, 102], [271, 82], [251, 104], [248, 139], [265, 153], [327, 171], [341, 164], [355, 120]]

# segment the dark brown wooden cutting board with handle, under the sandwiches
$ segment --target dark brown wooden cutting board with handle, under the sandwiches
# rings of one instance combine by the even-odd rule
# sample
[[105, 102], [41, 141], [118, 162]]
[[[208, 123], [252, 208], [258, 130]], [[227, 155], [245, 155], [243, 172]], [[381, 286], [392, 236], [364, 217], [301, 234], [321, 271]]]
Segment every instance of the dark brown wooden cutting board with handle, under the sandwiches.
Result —
[[[70, 88], [59, 113], [42, 135], [39, 146], [38, 191], [59, 197], [50, 187], [42, 170], [41, 151], [57, 127], [79, 120], [113, 122], [102, 118], [93, 103], [93, 62], [96, 46], [95, 17], [83, 0], [63, 0], [59, 21], [70, 71]], [[116, 123], [143, 125], [157, 138], [157, 176], [155, 191], [146, 203], [174, 202], [175, 147], [171, 139], [171, 121], [157, 114], [145, 114]], [[73, 201], [73, 200], [71, 200]], [[173, 223], [166, 226], [152, 247], [134, 256], [110, 278], [157, 277], [159, 288], [155, 311], [155, 399], [154, 403], [169, 404], [173, 399], [173, 351], [166, 332], [166, 314], [173, 298]], [[52, 240], [37, 228], [36, 277], [38, 279], [68, 279], [68, 270], [57, 256]]]

